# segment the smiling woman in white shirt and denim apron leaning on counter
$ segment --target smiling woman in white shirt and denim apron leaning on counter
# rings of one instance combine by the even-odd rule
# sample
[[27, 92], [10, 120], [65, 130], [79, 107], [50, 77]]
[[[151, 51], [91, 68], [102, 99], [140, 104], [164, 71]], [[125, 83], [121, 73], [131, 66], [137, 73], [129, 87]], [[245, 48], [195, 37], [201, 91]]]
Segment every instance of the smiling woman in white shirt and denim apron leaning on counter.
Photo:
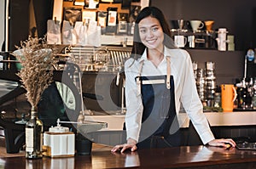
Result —
[[189, 54], [175, 48], [171, 32], [159, 8], [138, 14], [131, 59], [125, 62], [125, 149], [180, 145], [178, 110], [181, 104], [203, 144], [236, 146], [232, 139], [215, 139], [203, 114]]

